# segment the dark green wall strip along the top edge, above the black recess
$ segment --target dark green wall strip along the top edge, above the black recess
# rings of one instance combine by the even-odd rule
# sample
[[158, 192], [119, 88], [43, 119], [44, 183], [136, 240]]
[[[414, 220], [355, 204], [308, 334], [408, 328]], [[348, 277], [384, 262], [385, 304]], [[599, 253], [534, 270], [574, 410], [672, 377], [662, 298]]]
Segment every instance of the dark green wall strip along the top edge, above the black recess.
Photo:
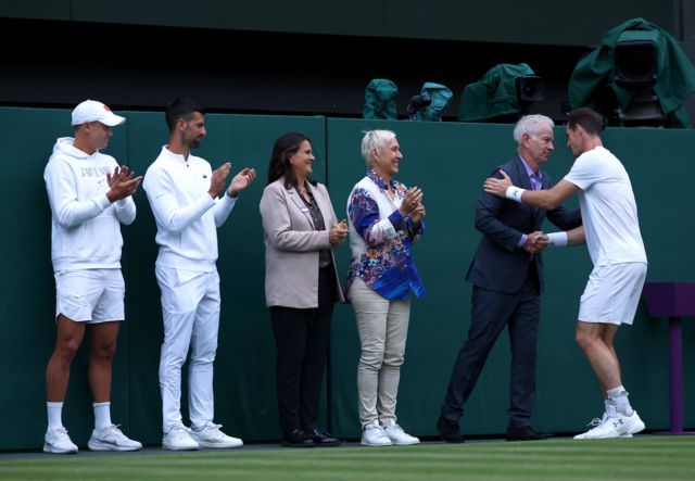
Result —
[[[184, 0], [24, 0], [0, 4], [1, 16], [560, 46], [593, 45], [607, 29], [636, 16], [669, 31], [674, 27], [673, 2], [654, 0], [612, 1], [609, 7], [603, 0], [200, 0], [194, 7]], [[582, 27], [568, 28], [573, 25]]]

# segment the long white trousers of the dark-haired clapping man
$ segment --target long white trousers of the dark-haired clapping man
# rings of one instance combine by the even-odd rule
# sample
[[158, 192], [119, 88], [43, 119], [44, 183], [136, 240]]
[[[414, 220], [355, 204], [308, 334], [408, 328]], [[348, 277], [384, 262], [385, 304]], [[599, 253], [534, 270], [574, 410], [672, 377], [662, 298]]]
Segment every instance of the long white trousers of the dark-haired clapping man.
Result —
[[181, 418], [181, 366], [190, 346], [188, 407], [191, 426], [203, 427], [214, 418], [213, 362], [219, 327], [217, 270], [197, 273], [156, 266], [162, 291], [164, 342], [160, 357], [162, 422], [164, 432], [184, 426]]

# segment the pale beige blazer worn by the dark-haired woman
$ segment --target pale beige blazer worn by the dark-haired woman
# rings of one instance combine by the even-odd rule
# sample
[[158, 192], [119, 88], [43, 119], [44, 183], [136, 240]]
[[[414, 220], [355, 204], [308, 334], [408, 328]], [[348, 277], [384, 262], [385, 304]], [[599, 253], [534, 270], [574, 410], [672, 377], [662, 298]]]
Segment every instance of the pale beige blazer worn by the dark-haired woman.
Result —
[[[338, 221], [326, 186], [308, 186], [327, 229]], [[318, 307], [318, 252], [329, 249], [337, 294], [345, 302], [328, 230], [314, 230], [312, 216], [294, 187], [285, 178], [268, 185], [261, 199], [265, 240], [265, 303], [267, 306]]]

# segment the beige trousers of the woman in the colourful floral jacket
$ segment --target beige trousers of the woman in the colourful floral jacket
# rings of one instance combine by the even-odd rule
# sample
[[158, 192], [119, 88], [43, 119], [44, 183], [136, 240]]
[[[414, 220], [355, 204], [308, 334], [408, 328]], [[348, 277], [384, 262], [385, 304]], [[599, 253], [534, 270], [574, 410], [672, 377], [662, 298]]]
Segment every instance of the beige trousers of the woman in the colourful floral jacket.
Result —
[[395, 421], [410, 300], [388, 300], [355, 277], [349, 299], [355, 308], [362, 354], [357, 367], [359, 422]]

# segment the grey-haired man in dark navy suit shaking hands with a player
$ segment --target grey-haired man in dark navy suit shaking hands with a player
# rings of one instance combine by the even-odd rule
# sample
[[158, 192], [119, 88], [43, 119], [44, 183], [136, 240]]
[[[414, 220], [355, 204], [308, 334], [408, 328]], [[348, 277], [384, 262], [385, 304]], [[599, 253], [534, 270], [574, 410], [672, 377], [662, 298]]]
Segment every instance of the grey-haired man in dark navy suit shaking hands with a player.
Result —
[[[515, 186], [548, 189], [541, 169], [553, 152], [553, 121], [527, 115], [514, 128], [518, 155], [501, 169]], [[495, 176], [501, 178], [498, 173]], [[544, 439], [531, 427], [535, 401], [535, 345], [541, 317], [543, 260], [548, 239], [541, 231], [547, 218], [561, 230], [581, 225], [578, 210], [529, 207], [483, 192], [476, 206], [476, 229], [482, 238], [466, 279], [473, 284], [468, 339], [458, 352], [437, 429], [450, 443], [464, 442], [458, 420], [478, 377], [505, 326], [511, 347], [507, 441]]]

